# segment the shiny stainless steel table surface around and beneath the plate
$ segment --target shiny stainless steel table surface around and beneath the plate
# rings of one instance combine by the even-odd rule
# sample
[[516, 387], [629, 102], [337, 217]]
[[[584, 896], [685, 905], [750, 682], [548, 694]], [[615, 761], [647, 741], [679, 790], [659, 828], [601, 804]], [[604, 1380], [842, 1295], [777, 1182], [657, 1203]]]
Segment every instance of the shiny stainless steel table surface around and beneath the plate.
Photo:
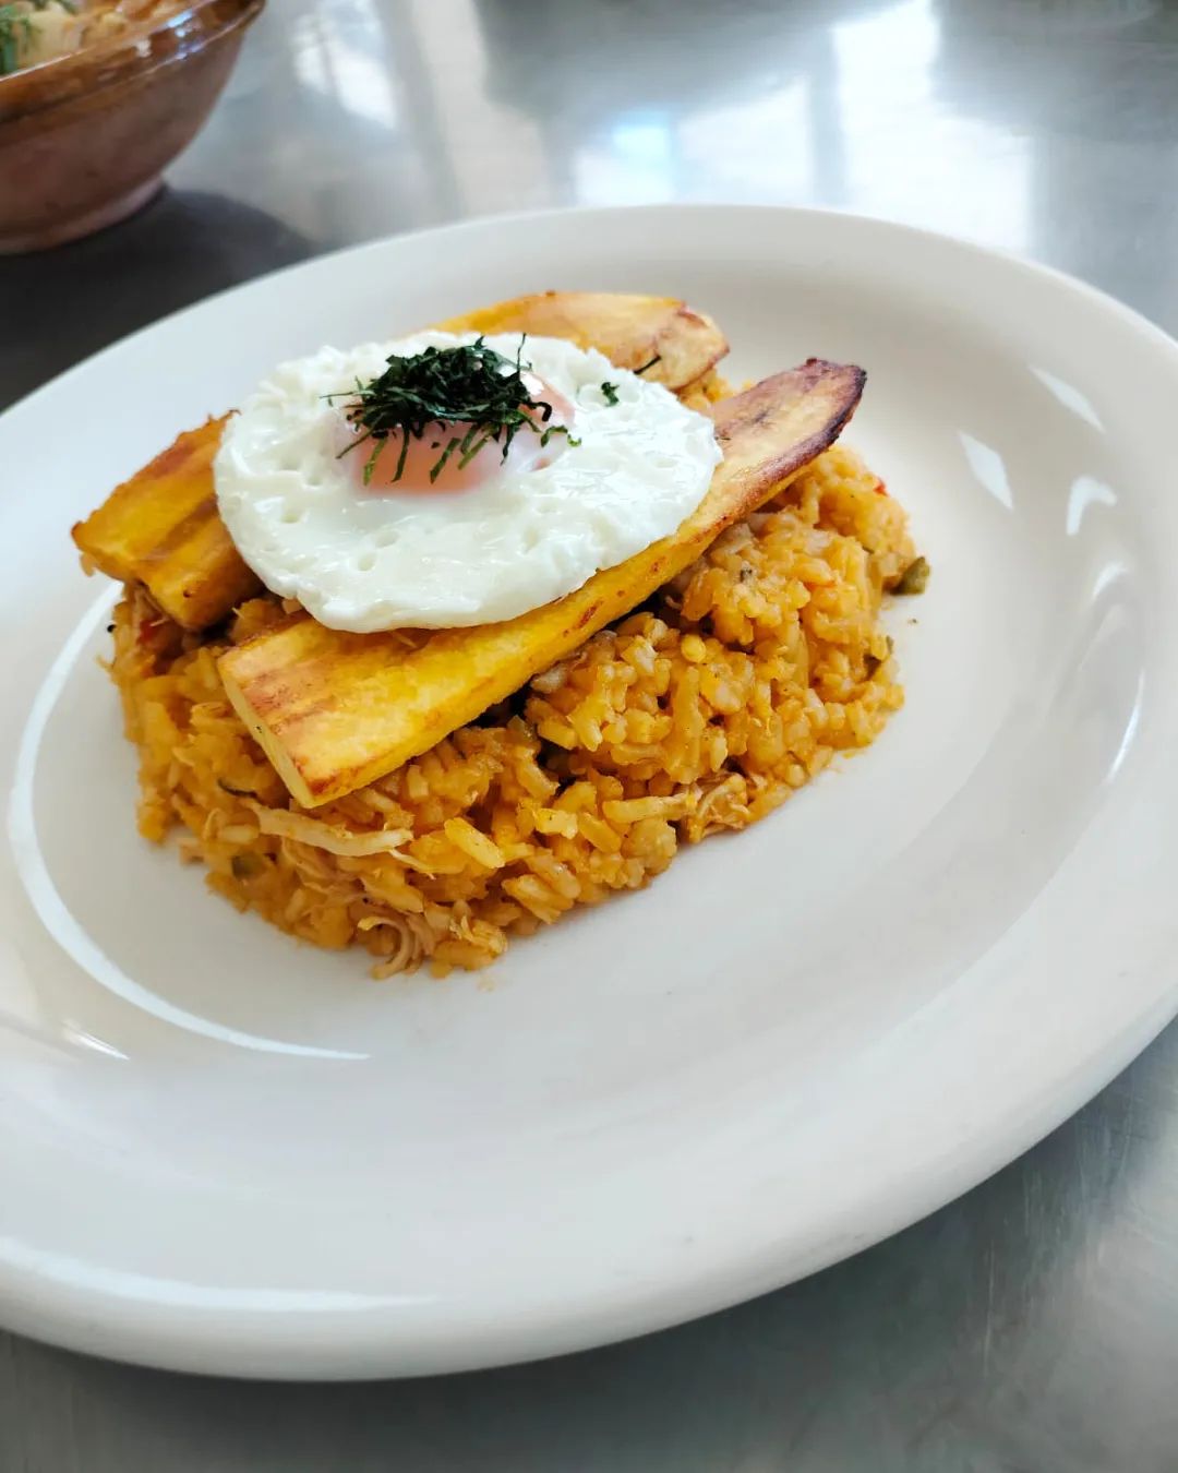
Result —
[[[165, 196], [91, 242], [0, 265], [0, 402], [331, 246], [663, 199], [959, 231], [1175, 331], [1178, 4], [272, 0]], [[1175, 1470], [1178, 1025], [920, 1226], [630, 1345], [284, 1388], [0, 1337], [0, 1473], [239, 1469]]]

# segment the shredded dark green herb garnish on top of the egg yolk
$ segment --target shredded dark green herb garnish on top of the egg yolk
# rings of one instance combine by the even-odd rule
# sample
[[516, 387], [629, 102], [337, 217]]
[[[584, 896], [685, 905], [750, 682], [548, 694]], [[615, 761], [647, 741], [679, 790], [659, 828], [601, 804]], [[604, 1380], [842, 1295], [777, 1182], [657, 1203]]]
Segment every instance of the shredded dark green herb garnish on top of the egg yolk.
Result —
[[511, 449], [511, 442], [527, 426], [540, 436], [540, 445], [548, 445], [554, 435], [564, 435], [570, 445], [580, 440], [568, 435], [564, 424], [549, 424], [552, 405], [533, 399], [524, 373], [532, 367], [523, 361], [523, 340], [515, 358], [487, 348], [482, 337], [459, 348], [427, 348], [411, 358], [393, 355], [387, 368], [371, 383], [356, 382], [355, 390], [328, 393], [328, 399], [350, 398], [345, 414], [359, 432], [356, 439], [340, 451], [348, 455], [358, 445], [371, 440], [373, 446], [364, 464], [365, 486], [384, 442], [392, 435], [401, 436], [401, 457], [393, 480], [401, 480], [409, 440], [421, 439], [436, 426], [467, 426], [458, 436], [431, 439], [442, 454], [430, 470], [430, 482], [437, 480], [452, 455], [458, 455], [459, 467], [470, 464], [487, 443], [502, 451], [502, 458]]

